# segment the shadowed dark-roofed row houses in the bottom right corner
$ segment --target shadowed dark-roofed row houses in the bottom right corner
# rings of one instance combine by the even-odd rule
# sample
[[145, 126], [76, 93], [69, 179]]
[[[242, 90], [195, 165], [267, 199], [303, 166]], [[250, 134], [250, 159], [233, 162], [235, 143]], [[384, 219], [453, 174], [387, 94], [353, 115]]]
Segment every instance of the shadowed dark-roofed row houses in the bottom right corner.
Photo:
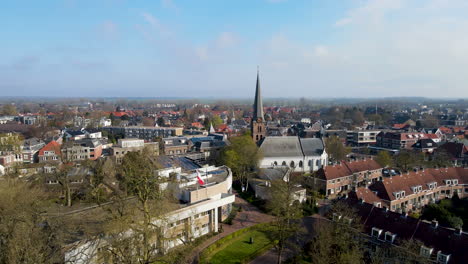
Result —
[[[468, 233], [460, 228], [443, 227], [437, 221], [416, 219], [352, 197], [344, 201], [356, 213], [355, 221], [363, 225], [362, 237], [369, 255], [379, 255], [382, 248], [403, 249], [406, 241], [415, 240], [419, 245], [411, 253], [421, 263], [455, 264], [468, 259]], [[345, 223], [345, 219], [337, 213], [333, 215], [333, 221]]]

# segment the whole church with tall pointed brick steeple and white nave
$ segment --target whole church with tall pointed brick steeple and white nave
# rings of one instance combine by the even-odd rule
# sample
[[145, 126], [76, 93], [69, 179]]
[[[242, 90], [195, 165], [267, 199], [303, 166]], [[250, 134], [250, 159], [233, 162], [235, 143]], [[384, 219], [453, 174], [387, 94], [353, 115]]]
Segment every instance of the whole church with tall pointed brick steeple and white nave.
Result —
[[313, 172], [328, 163], [325, 144], [321, 138], [266, 136], [267, 127], [263, 114], [258, 70], [251, 133], [262, 152], [261, 168], [288, 166], [296, 172]]

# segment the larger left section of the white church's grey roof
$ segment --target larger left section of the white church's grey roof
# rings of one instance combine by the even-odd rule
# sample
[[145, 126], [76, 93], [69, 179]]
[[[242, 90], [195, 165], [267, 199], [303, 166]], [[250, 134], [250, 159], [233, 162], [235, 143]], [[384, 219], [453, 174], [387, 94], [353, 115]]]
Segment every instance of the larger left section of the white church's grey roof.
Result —
[[260, 150], [264, 157], [303, 156], [298, 137], [266, 137]]

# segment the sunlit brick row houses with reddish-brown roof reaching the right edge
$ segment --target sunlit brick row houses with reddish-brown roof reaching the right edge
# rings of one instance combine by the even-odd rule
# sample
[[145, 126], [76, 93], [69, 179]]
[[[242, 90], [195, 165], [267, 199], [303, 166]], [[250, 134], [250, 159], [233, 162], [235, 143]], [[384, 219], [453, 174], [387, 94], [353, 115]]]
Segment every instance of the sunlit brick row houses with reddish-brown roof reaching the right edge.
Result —
[[376, 207], [396, 212], [418, 211], [429, 203], [468, 197], [468, 168], [430, 168], [385, 178], [350, 194]]

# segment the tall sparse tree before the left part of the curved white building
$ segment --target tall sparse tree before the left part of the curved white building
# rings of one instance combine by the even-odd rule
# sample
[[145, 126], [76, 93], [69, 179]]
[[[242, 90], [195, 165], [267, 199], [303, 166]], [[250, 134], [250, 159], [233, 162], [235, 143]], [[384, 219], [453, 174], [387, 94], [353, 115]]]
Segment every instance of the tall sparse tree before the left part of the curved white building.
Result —
[[150, 152], [129, 152], [121, 166], [120, 180], [135, 202], [119, 200], [106, 225], [109, 245], [103, 249], [108, 262], [150, 264], [164, 254], [165, 215], [173, 209], [171, 193], [161, 187], [165, 179], [155, 175], [159, 165]]

